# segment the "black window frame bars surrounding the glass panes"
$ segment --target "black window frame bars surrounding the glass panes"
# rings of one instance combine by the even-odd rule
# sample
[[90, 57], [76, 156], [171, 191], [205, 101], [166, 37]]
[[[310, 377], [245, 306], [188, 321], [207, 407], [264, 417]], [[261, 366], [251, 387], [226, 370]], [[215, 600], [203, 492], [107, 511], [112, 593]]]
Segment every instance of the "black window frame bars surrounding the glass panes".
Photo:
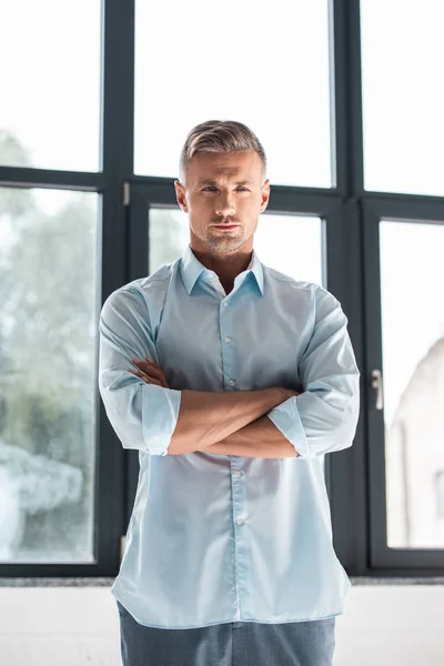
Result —
[[[98, 173], [0, 165], [0, 186], [61, 188], [98, 192], [102, 198], [102, 303], [122, 284], [149, 272], [149, 209], [176, 208], [173, 178], [135, 175], [134, 147], [134, 3], [102, 2], [102, 160]], [[442, 215], [444, 198], [366, 192], [363, 174], [360, 1], [331, 0], [331, 119], [333, 185], [330, 189], [274, 185], [266, 213], [311, 214], [325, 220], [326, 286], [341, 301], [361, 370], [361, 414], [351, 448], [325, 456], [333, 544], [350, 576], [396, 577], [444, 575], [443, 551], [392, 551], [381, 532], [381, 502], [374, 484], [384, 478], [381, 413], [369, 370], [381, 359], [381, 339], [369, 334], [380, 322], [379, 284], [372, 261], [379, 255], [373, 223], [396, 213], [423, 211]], [[157, 102], [158, 103], [158, 102]], [[266, 150], [266, 147], [265, 147]], [[179, 155], [178, 155], [179, 160]], [[265, 214], [266, 214], [265, 213]], [[441, 218], [440, 218], [441, 219]], [[373, 220], [373, 222], [372, 222]], [[376, 365], [377, 366], [377, 365]], [[131, 516], [139, 474], [138, 452], [123, 450], [99, 395], [98, 563], [0, 564], [2, 577], [114, 576], [121, 536]], [[380, 430], [379, 430], [380, 428]], [[373, 490], [372, 490], [373, 488]], [[384, 508], [383, 508], [384, 511]]]

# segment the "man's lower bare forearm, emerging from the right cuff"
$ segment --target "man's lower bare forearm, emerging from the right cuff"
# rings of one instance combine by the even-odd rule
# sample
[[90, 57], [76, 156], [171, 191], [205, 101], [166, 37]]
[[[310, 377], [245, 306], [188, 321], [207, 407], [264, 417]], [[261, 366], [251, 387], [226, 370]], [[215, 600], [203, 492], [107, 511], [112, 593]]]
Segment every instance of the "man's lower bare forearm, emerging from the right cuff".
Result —
[[[199, 451], [199, 450], [198, 450]], [[221, 455], [242, 455], [245, 457], [297, 457], [293, 444], [264, 415], [232, 433], [221, 442], [206, 446], [202, 451]]]

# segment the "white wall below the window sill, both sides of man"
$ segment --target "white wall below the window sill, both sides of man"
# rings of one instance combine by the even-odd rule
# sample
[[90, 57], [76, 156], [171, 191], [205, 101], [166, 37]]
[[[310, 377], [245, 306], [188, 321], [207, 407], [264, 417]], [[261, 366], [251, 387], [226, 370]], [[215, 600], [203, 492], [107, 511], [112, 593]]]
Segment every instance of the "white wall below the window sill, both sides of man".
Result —
[[[120, 666], [109, 587], [0, 587], [2, 666]], [[354, 585], [334, 666], [443, 666], [443, 585]]]

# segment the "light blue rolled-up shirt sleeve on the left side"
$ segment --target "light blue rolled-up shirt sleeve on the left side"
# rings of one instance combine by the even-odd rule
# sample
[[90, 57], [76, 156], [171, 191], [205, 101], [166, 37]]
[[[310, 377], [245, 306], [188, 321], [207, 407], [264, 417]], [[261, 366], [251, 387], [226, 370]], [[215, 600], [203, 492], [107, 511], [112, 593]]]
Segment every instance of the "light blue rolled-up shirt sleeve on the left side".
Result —
[[182, 392], [147, 384], [130, 372], [132, 359], [158, 362], [143, 293], [121, 287], [105, 300], [99, 317], [99, 392], [124, 448], [167, 455]]

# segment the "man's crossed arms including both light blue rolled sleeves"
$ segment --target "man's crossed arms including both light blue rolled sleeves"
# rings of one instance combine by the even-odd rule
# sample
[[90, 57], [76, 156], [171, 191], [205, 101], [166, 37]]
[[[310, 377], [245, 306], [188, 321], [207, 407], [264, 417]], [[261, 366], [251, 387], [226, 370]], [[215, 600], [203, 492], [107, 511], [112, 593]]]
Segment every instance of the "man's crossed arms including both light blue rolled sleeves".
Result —
[[147, 384], [132, 374], [134, 356], [157, 355], [150, 317], [139, 287], [113, 292], [100, 314], [99, 390], [122, 445], [151, 455], [208, 451], [302, 460], [351, 446], [360, 372], [339, 301], [321, 289], [316, 297], [313, 334], [299, 361], [303, 393], [216, 393]]

